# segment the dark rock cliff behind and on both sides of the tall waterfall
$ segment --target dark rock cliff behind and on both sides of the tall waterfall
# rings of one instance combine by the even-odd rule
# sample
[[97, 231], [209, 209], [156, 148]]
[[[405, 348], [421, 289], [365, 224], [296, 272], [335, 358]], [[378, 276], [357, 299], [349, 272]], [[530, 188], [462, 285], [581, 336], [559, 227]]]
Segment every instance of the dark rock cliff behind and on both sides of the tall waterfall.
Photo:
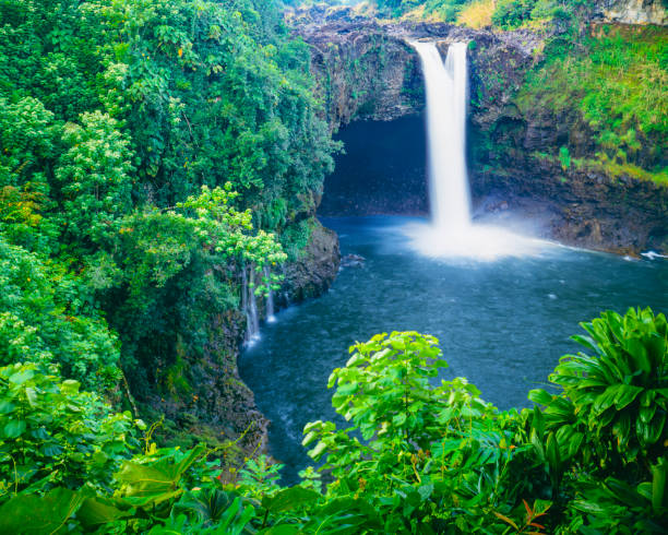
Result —
[[[610, 13], [606, 16], [611, 17]], [[623, 171], [612, 176], [595, 165], [564, 166], [554, 157], [564, 143], [585, 162], [594, 156], [591, 132], [577, 103], [559, 117], [518, 105], [517, 91], [527, 72], [540, 62], [548, 36], [526, 31], [474, 31], [441, 23], [379, 24], [358, 16], [350, 20], [345, 10], [335, 14], [332, 17], [323, 11], [296, 27], [312, 46], [313, 72], [333, 129], [350, 121], [418, 116], [425, 103], [424, 81], [419, 60], [408, 43], [434, 39], [444, 54], [450, 43], [468, 41], [469, 159], [478, 206], [491, 205], [488, 200], [502, 199], [511, 209], [540, 214], [547, 219], [544, 236], [570, 245], [623, 253], [668, 250], [668, 188]], [[371, 123], [369, 129], [377, 130]], [[401, 142], [397, 147], [386, 147], [387, 152], [404, 148]], [[424, 174], [424, 168], [416, 173]], [[406, 194], [420, 183], [415, 173], [406, 179], [410, 188], [390, 185], [389, 179], [390, 187], [377, 185], [372, 190], [363, 176], [357, 174], [350, 179], [350, 175], [355, 173], [335, 175], [335, 180], [345, 182], [343, 186], [325, 185], [326, 214], [413, 214], [427, 206], [424, 198]], [[425, 180], [422, 175], [422, 185]], [[417, 190], [419, 195], [427, 194], [425, 187]], [[335, 199], [329, 198], [327, 191], [334, 192]], [[401, 192], [402, 202], [395, 199], [396, 192]]]

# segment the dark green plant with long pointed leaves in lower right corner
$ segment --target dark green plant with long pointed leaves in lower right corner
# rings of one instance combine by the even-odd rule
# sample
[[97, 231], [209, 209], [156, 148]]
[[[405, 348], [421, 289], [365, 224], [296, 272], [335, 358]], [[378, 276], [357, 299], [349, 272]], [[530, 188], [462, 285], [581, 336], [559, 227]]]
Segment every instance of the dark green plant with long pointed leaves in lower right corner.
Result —
[[572, 526], [660, 533], [668, 506], [666, 318], [608, 311], [582, 326], [588, 336], [573, 340], [592, 354], [562, 357], [550, 376], [562, 393], [529, 393], [545, 406], [534, 412], [532, 442], [545, 451], [553, 490], [575, 494], [564, 504]]

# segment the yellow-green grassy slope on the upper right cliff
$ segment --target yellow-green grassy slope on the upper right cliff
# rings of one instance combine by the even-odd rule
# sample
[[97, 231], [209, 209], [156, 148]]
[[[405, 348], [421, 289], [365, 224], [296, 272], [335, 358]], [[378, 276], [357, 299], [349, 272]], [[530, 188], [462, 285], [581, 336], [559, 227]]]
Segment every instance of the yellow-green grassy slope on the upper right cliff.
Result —
[[606, 166], [654, 168], [668, 139], [666, 50], [666, 28], [595, 27], [580, 48], [546, 49], [516, 103], [527, 116], [547, 109], [554, 118], [576, 103]]

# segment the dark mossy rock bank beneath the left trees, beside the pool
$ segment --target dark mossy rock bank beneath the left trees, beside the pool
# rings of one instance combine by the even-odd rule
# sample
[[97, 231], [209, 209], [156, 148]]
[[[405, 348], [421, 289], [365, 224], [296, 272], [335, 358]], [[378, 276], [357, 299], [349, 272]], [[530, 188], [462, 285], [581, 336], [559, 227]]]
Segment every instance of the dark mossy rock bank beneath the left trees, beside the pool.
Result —
[[[277, 308], [326, 292], [338, 272], [338, 237], [317, 219], [308, 221], [306, 246], [284, 266]], [[203, 311], [200, 337], [190, 343], [177, 340], [176, 364], [167, 380], [157, 384], [156, 379], [153, 388], [136, 394], [144, 414], [151, 420], [164, 416], [164, 427], [157, 432], [171, 442], [191, 445], [201, 440], [214, 444], [235, 441], [240, 456], [264, 452], [271, 421], [255, 406], [254, 395], [237, 368], [247, 331], [246, 316], [235, 309], [206, 316], [210, 302], [198, 296], [189, 296], [188, 302]], [[258, 299], [258, 309], [263, 319], [264, 299]]]

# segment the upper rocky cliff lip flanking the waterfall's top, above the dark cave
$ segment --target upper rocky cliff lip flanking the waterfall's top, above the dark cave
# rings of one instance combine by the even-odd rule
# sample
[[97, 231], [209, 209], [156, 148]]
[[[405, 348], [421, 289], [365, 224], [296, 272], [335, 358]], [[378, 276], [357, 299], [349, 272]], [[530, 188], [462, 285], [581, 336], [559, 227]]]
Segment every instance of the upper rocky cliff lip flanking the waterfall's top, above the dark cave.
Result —
[[[353, 120], [393, 120], [419, 114], [425, 107], [425, 90], [418, 56], [410, 46], [415, 39], [438, 39], [442, 50], [455, 41], [470, 43], [473, 64], [481, 69], [499, 62], [514, 66], [517, 85], [526, 66], [535, 61], [542, 43], [530, 32], [476, 31], [445, 23], [380, 24], [335, 10], [336, 16], [318, 8], [307, 13], [295, 31], [311, 46], [312, 72], [318, 94], [325, 103], [326, 119], [333, 129]], [[347, 13], [347, 16], [344, 14]], [[481, 87], [474, 69], [472, 94]], [[500, 81], [494, 95], [509, 95], [509, 81]], [[504, 91], [503, 91], [504, 90]]]

